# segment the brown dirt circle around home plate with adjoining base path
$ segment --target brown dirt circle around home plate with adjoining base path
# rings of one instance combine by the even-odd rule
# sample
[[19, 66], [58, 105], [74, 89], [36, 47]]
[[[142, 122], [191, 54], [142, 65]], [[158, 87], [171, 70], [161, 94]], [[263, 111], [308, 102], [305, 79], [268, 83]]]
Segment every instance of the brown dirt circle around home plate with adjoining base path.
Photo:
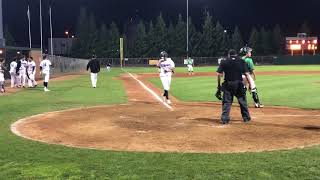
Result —
[[[161, 95], [143, 75], [134, 77]], [[221, 126], [220, 104], [173, 99], [170, 110], [136, 79], [121, 77], [128, 104], [41, 114], [19, 120], [12, 131], [49, 144], [116, 151], [231, 153], [320, 144], [320, 111], [251, 108], [253, 121], [245, 124], [234, 106], [231, 124]]]

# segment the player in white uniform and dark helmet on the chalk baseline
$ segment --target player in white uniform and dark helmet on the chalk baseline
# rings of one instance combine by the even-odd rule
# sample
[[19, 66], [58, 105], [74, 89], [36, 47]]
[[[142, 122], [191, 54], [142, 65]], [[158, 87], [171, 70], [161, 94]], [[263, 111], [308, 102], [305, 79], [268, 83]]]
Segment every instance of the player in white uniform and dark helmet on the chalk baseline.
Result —
[[174, 73], [175, 64], [171, 58], [168, 58], [168, 53], [162, 51], [160, 53], [161, 59], [158, 62], [158, 67], [160, 71], [160, 79], [164, 89], [163, 102], [171, 104], [169, 99], [169, 90], [171, 86], [172, 74]]

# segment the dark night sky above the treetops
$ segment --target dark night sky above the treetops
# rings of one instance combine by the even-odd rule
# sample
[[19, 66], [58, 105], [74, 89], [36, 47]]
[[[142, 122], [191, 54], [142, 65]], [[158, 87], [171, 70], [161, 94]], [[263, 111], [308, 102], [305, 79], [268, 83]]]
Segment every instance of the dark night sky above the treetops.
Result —
[[[44, 37], [49, 37], [48, 4], [43, 1]], [[34, 46], [40, 44], [39, 0], [29, 0]], [[209, 10], [227, 29], [240, 26], [244, 34], [252, 26], [272, 28], [280, 24], [286, 35], [294, 35], [307, 21], [313, 35], [320, 35], [319, 0], [189, 0], [190, 16], [198, 26], [204, 9]], [[4, 24], [19, 46], [28, 44], [27, 0], [3, 0]], [[160, 12], [168, 22], [186, 15], [186, 0], [55, 0], [53, 3], [54, 36], [63, 37], [64, 30], [74, 31], [80, 7], [92, 12], [97, 24], [115, 21], [119, 28], [136, 15], [144, 20], [155, 19]], [[319, 32], [319, 33], [318, 33]], [[46, 44], [45, 44], [46, 45]]]

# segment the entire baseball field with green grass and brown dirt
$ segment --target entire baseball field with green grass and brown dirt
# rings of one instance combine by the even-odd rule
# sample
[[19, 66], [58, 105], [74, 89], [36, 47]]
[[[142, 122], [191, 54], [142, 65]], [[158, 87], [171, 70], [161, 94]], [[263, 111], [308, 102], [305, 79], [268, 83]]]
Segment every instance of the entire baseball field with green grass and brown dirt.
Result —
[[221, 127], [216, 67], [114, 68], [0, 96], [0, 179], [320, 179], [320, 66], [257, 67], [266, 105]]

